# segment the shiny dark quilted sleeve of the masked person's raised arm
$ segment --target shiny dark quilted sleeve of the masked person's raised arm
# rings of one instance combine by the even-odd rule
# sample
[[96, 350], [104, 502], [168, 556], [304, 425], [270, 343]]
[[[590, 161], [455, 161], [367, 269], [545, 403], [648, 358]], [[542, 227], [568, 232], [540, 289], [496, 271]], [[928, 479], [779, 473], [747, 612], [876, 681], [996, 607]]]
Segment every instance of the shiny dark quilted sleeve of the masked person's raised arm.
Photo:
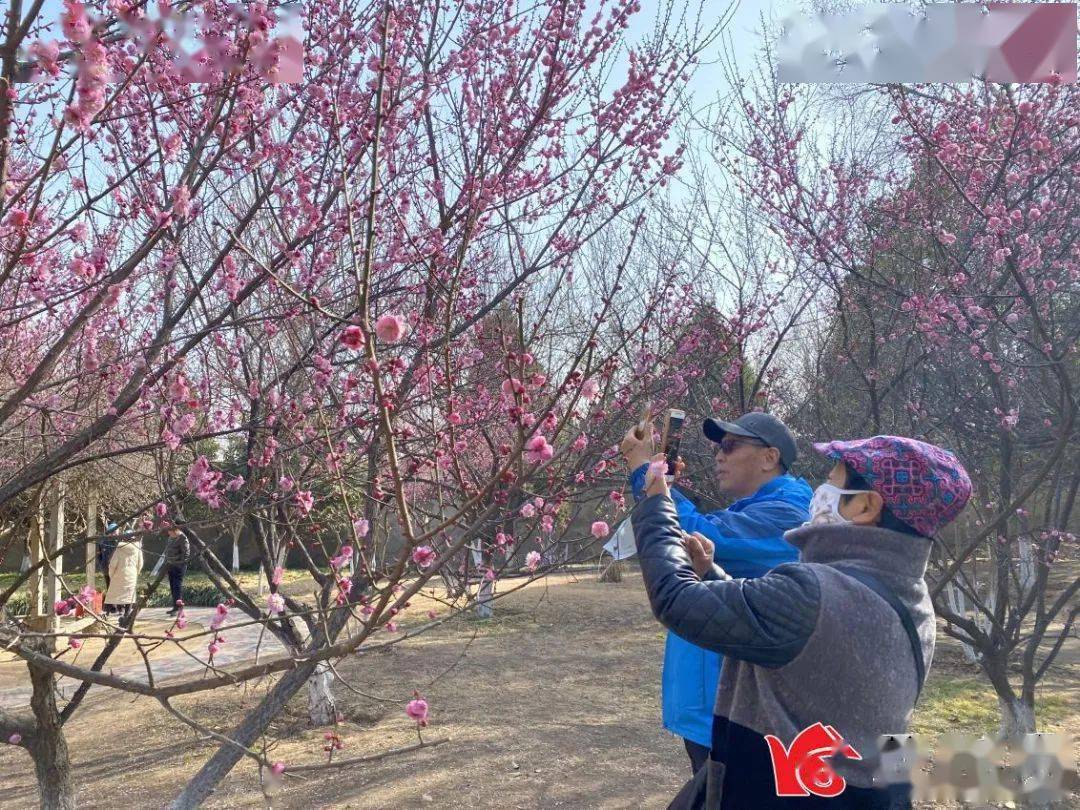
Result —
[[654, 495], [631, 516], [652, 612], [699, 647], [761, 666], [783, 666], [806, 646], [821, 607], [813, 570], [798, 563], [757, 579], [699, 579], [681, 544], [671, 498]]

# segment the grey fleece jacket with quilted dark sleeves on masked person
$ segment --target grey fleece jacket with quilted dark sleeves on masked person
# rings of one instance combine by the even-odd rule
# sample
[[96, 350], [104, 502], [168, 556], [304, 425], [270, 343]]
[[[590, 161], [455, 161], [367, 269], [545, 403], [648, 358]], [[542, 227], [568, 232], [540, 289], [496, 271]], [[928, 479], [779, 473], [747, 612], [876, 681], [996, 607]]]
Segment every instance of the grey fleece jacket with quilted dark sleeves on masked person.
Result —
[[[725, 657], [707, 784], [699, 777], [676, 806], [909, 806], [908, 786], [876, 784], [874, 771], [879, 738], [907, 730], [919, 688], [915, 656], [896, 611], [840, 569], [869, 573], [899, 597], [929, 669], [935, 630], [923, 575], [930, 541], [876, 527], [805, 526], [785, 535], [799, 549], [799, 563], [758, 579], [714, 570], [702, 580], [681, 548], [670, 498], [642, 501], [632, 519], [656, 617]], [[833, 760], [847, 782], [840, 796], [780, 799], [765, 738], [788, 747], [815, 723], [834, 727], [863, 758]]]

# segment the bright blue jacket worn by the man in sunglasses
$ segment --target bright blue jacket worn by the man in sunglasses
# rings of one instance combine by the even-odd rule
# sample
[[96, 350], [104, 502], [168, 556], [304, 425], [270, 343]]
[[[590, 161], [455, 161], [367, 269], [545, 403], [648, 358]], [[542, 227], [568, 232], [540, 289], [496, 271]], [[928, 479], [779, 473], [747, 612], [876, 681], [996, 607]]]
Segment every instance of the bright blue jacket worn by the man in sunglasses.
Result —
[[[630, 476], [634, 499], [645, 497], [642, 464]], [[716, 545], [717, 564], [738, 578], [760, 577], [769, 569], [798, 559], [798, 551], [783, 534], [810, 517], [810, 485], [794, 475], [778, 475], [748, 498], [727, 509], [702, 514], [686, 496], [672, 489], [672, 500], [684, 531], [700, 531]], [[713, 704], [720, 678], [720, 656], [667, 632], [664, 647], [662, 705], [664, 728], [699, 745], [713, 737]]]

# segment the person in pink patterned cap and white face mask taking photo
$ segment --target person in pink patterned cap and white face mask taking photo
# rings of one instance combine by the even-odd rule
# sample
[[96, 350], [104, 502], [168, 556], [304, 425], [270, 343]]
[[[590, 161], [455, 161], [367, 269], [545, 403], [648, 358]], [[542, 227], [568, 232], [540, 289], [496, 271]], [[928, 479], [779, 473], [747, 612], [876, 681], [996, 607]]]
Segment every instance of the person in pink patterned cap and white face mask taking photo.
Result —
[[[725, 656], [707, 765], [673, 808], [910, 807], [910, 785], [879, 772], [878, 744], [906, 731], [933, 658], [929, 538], [971, 482], [953, 454], [912, 438], [814, 449], [836, 463], [810, 521], [785, 535], [799, 562], [757, 579], [732, 579], [685, 537], [650, 467], [632, 521], [652, 611]], [[828, 744], [802, 751], [811, 732]]]

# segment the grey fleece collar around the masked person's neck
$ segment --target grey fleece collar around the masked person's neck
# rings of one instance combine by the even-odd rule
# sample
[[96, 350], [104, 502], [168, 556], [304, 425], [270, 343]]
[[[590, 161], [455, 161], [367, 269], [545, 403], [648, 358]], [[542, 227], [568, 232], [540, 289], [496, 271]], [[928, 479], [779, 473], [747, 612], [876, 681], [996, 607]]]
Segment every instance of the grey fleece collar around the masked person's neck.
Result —
[[921, 579], [930, 540], [877, 526], [799, 526], [784, 534], [804, 563], [850, 565], [892, 578]]

